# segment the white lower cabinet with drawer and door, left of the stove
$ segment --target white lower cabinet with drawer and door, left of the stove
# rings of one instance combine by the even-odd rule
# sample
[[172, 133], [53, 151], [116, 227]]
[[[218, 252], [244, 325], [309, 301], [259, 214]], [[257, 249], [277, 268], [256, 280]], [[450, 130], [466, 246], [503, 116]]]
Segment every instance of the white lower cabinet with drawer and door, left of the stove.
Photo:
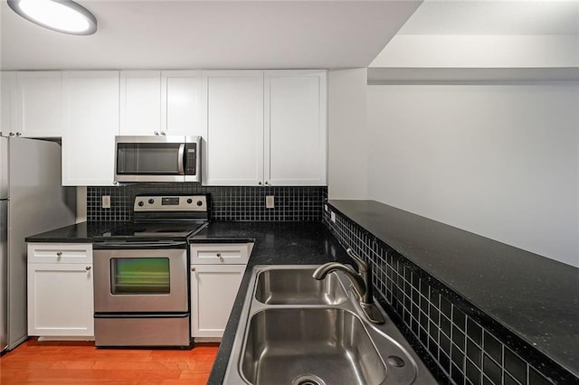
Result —
[[92, 337], [92, 245], [28, 244], [28, 334]]

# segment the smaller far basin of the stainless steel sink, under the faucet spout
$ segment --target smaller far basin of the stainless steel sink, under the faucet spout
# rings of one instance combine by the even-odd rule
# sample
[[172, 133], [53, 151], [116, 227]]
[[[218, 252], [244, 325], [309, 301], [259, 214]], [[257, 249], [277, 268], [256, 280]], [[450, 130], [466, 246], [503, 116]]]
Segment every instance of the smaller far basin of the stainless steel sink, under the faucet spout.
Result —
[[347, 295], [335, 274], [318, 281], [315, 268], [276, 268], [261, 271], [255, 299], [267, 305], [337, 305]]

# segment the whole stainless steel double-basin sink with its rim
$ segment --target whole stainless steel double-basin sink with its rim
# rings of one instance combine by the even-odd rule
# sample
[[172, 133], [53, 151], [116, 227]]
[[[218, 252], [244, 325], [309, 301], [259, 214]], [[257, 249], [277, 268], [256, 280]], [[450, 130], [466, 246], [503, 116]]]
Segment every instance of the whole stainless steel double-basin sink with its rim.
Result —
[[384, 310], [372, 324], [341, 272], [256, 266], [225, 384], [435, 384]]

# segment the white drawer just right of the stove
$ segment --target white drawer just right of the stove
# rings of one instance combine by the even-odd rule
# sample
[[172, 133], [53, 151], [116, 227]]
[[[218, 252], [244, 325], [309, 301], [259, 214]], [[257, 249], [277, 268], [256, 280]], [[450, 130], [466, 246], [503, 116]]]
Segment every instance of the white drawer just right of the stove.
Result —
[[246, 265], [252, 243], [215, 243], [191, 245], [192, 265]]

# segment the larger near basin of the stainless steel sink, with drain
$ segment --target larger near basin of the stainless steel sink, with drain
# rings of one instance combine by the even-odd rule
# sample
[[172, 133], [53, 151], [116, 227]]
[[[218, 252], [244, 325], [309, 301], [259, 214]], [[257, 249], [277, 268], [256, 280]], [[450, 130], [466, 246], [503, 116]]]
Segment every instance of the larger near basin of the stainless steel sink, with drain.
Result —
[[253, 384], [379, 384], [386, 377], [364, 325], [344, 309], [263, 310], [252, 316], [246, 342], [242, 375]]

